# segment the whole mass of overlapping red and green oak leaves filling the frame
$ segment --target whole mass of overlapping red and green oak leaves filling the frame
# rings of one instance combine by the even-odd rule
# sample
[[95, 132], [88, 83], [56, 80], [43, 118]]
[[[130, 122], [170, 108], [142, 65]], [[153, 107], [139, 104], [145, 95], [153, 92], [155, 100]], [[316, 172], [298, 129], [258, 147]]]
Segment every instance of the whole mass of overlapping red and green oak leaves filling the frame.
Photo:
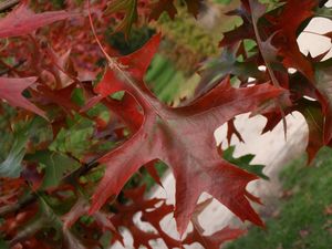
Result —
[[[184, 3], [197, 17], [205, 1]], [[128, 38], [135, 22], [163, 12], [172, 18], [176, 1], [68, 0], [54, 10], [52, 1], [23, 0], [3, 14], [1, 128], [12, 135], [0, 164], [0, 245], [106, 248], [123, 242], [122, 227], [135, 248], [152, 248], [159, 238], [168, 248], [193, 242], [219, 248], [242, 235], [229, 227], [204, 235], [197, 219], [208, 204], [197, 205], [203, 193], [241, 220], [263, 226], [250, 205], [260, 200], [246, 189], [258, 175], [266, 177], [261, 166], [249, 166], [251, 156], [234, 158], [231, 149], [222, 155], [214, 132], [227, 123], [228, 139], [241, 139], [236, 115], [264, 115], [267, 132], [299, 111], [310, 129], [309, 158], [331, 144], [331, 60], [323, 60], [325, 53], [305, 56], [297, 43], [305, 23], [329, 9], [317, 0], [298, 3], [282, 0], [267, 9], [257, 0], [240, 1], [228, 14], [242, 24], [225, 33], [222, 55], [203, 68], [196, 98], [180, 106], [163, 104], [144, 83], [162, 33], [124, 56], [103, 37], [110, 25]], [[174, 206], [145, 198], [144, 186], [126, 186], [143, 167], [160, 184], [157, 162], [175, 176]], [[153, 231], [137, 226], [137, 214]], [[169, 214], [180, 236], [189, 222], [193, 231], [180, 239], [167, 235], [160, 220]]]

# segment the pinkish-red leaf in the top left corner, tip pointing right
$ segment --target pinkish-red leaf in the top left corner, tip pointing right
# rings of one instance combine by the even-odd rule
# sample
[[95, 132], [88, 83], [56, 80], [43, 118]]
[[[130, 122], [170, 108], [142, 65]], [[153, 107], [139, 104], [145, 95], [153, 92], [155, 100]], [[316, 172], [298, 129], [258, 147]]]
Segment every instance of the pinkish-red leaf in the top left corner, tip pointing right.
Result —
[[24, 0], [7, 17], [0, 19], [0, 38], [29, 34], [41, 27], [68, 19], [70, 17], [72, 17], [72, 14], [68, 13], [66, 11], [34, 13], [29, 9], [28, 1]]

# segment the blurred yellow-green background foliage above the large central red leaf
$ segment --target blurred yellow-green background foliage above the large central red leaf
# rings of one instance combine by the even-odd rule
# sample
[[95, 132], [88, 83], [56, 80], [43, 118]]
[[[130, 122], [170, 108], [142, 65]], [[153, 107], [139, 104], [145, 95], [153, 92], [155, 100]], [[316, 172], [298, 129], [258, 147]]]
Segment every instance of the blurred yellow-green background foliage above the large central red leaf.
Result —
[[241, 23], [240, 18], [226, 15], [239, 1], [208, 0], [197, 19], [188, 13], [185, 2], [177, 1], [174, 20], [163, 13], [157, 21], [142, 22], [132, 29], [128, 40], [123, 33], [106, 33], [108, 44], [128, 54], [141, 48], [154, 33], [162, 32], [163, 42], [145, 76], [156, 96], [170, 105], [193, 97], [200, 77], [195, 73], [207, 59], [218, 58], [222, 33]]

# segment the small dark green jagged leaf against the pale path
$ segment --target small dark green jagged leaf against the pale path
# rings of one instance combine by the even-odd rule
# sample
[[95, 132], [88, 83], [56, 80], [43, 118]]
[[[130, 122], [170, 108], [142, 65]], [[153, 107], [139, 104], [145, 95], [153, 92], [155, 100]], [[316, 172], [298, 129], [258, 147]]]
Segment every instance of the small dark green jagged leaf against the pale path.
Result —
[[240, 167], [247, 172], [250, 172], [250, 173], [261, 177], [262, 179], [267, 179], [267, 180], [269, 179], [269, 177], [262, 173], [264, 165], [250, 165], [255, 155], [248, 154], [248, 155], [235, 158], [234, 152], [235, 152], [235, 146], [230, 146], [226, 151], [224, 151], [224, 153], [222, 153], [224, 159], [228, 160], [229, 163], [231, 163], [234, 165], [237, 165], [238, 167]]

